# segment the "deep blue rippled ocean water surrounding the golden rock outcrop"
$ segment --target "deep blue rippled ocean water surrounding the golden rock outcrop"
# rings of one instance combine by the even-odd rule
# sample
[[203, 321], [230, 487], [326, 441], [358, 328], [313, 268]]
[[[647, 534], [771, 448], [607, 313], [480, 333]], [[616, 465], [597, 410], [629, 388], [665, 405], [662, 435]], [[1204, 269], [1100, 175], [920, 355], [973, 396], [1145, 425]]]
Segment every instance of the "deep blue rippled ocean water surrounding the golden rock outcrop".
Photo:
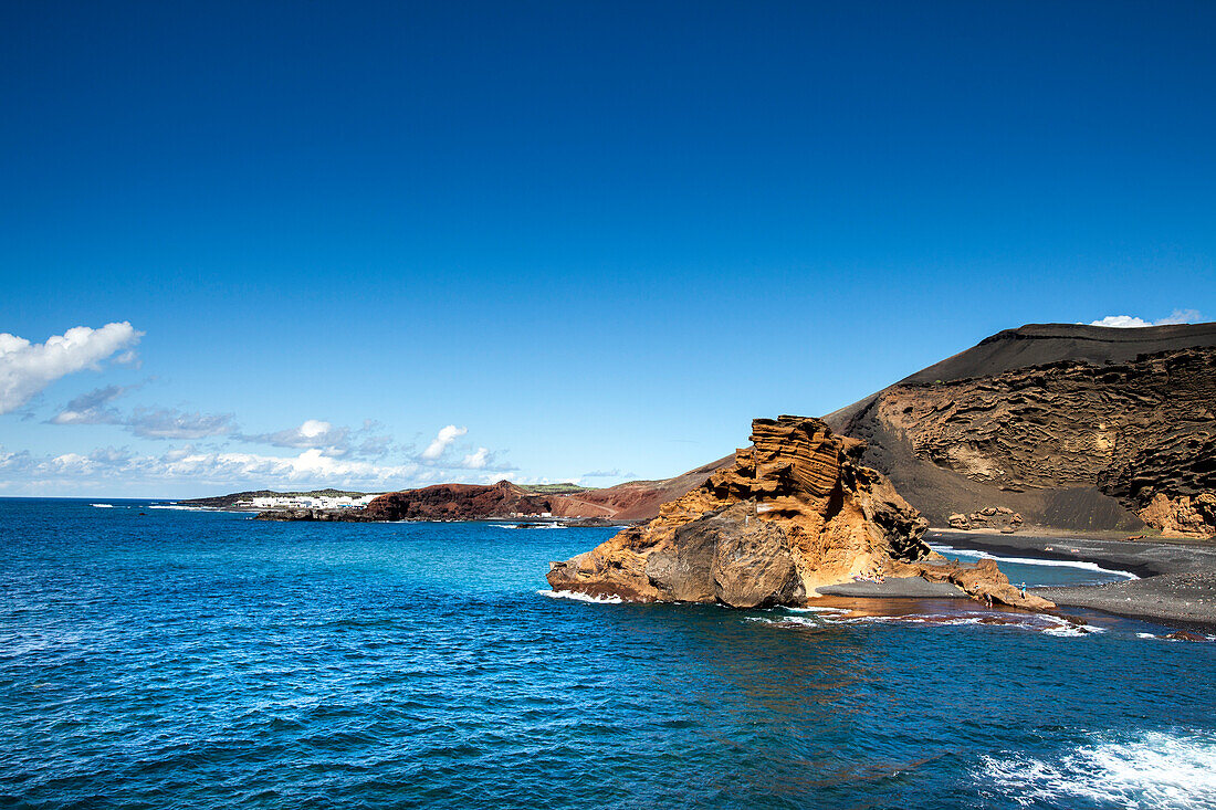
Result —
[[586, 603], [544, 574], [609, 530], [109, 502], [0, 500], [2, 806], [1216, 805], [1216, 643], [1155, 625]]

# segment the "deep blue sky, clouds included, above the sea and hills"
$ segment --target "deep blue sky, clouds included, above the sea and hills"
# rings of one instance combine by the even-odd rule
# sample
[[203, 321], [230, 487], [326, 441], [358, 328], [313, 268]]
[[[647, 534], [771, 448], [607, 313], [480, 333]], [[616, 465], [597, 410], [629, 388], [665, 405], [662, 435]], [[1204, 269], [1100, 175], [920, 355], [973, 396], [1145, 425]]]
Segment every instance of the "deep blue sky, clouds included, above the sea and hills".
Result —
[[0, 495], [666, 477], [1002, 328], [1212, 320], [1214, 30], [5, 4]]

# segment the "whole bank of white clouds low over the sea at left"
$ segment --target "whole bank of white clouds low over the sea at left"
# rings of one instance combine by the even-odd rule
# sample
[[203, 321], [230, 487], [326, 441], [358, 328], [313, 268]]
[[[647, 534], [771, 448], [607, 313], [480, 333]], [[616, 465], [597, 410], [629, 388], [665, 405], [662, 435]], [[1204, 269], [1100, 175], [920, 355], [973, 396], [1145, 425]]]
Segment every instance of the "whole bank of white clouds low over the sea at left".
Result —
[[[45, 343], [0, 334], [0, 414], [32, 403], [32, 410], [39, 407], [38, 395], [69, 375], [102, 371], [112, 364], [133, 365], [134, 347], [142, 337], [143, 332], [126, 321], [101, 328], [77, 326]], [[187, 444], [142, 452], [105, 446], [57, 454], [0, 446], [0, 493], [74, 494], [139, 485], [154, 494], [168, 482], [212, 489], [342, 486], [383, 491], [456, 478], [489, 483], [516, 469], [500, 459], [500, 451], [462, 443], [469, 432], [463, 426], [440, 428], [421, 452], [396, 443], [383, 424], [370, 418], [359, 428], [309, 418], [281, 431], [244, 433], [235, 414], [158, 405], [124, 407], [122, 400], [143, 384], [94, 388], [69, 399], [41, 423], [117, 427], [143, 440], [207, 440], [210, 446]], [[299, 452], [246, 452], [231, 443]]]

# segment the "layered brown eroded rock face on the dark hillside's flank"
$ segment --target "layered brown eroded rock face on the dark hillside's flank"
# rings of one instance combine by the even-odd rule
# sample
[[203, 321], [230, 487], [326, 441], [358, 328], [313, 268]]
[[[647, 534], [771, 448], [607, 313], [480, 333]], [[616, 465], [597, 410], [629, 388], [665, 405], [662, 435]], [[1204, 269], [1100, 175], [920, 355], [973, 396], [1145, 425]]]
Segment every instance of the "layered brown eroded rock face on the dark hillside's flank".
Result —
[[[976, 497], [1003, 500], [1032, 522], [1060, 525], [1064, 504], [1085, 495], [1114, 499], [1128, 519], [1138, 517], [1166, 535], [1216, 535], [1211, 347], [1110, 365], [1062, 361], [992, 377], [897, 384], [879, 393], [845, 432], [877, 441], [880, 452], [867, 455], [876, 456], [872, 463], [889, 469], [935, 521], [956, 528], [991, 525], [967, 513]], [[952, 513], [942, 512], [945, 504], [956, 506]], [[1135, 524], [1115, 519], [1071, 528]]]

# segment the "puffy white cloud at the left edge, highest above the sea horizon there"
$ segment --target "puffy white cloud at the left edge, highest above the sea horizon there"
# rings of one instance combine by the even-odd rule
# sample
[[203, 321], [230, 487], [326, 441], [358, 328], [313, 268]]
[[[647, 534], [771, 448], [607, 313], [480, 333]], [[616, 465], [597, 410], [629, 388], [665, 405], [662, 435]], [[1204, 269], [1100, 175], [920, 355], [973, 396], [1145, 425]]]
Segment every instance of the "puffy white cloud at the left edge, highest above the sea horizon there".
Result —
[[56, 379], [86, 369], [98, 370], [101, 362], [119, 351], [135, 355], [130, 348], [143, 336], [129, 322], [107, 324], [98, 330], [77, 326], [55, 334], [46, 343], [0, 333], [0, 414], [13, 411]]

